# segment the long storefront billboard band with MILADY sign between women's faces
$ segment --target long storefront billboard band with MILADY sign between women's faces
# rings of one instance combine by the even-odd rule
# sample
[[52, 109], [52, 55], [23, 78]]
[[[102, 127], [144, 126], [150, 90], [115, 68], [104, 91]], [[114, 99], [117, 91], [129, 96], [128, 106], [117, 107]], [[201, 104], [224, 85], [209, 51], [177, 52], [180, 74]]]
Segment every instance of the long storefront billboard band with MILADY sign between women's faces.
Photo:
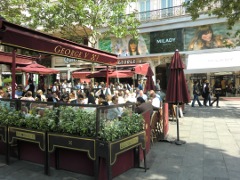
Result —
[[99, 49], [118, 56], [138, 56], [174, 52], [176, 49], [180, 51], [196, 51], [223, 48], [231, 44], [239, 46], [238, 39], [234, 37], [234, 33], [237, 32], [239, 27], [240, 23], [236, 23], [230, 31], [227, 28], [227, 23], [219, 23], [143, 33], [139, 35], [137, 40], [131, 37], [122, 39], [108, 38], [99, 41]]

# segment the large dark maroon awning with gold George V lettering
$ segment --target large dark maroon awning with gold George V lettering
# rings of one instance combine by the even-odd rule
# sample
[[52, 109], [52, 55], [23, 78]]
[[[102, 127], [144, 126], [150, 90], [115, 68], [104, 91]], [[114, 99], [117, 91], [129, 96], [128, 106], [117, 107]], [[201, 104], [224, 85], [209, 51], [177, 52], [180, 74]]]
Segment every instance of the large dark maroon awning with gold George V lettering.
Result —
[[116, 65], [117, 55], [0, 20], [0, 43], [36, 52]]

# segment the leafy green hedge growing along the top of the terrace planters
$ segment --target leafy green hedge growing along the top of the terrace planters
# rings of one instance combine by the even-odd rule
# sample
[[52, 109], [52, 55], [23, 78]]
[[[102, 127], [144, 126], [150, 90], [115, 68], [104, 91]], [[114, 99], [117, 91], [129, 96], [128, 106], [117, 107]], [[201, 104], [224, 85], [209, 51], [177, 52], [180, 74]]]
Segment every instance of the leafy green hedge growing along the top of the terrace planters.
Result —
[[[55, 109], [45, 109], [43, 116], [35, 110], [31, 114], [0, 107], [0, 124], [40, 131], [72, 134], [82, 137], [96, 137], [96, 112], [82, 108], [61, 106]], [[142, 115], [126, 111], [121, 119], [100, 120], [98, 137], [112, 142], [144, 129]]]

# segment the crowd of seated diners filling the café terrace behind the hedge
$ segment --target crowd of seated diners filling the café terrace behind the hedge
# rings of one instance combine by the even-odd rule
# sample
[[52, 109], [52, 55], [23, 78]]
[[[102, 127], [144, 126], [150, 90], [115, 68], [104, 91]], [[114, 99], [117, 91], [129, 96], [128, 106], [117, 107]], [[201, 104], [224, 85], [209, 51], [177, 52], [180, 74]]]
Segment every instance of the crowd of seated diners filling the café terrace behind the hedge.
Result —
[[[0, 98], [6, 98], [6, 95], [10, 98], [11, 86], [10, 84], [6, 84], [6, 86], [0, 88]], [[159, 89], [158, 84], [157, 90], [159, 91]], [[63, 81], [61, 84], [56, 81], [45, 92], [43, 89], [36, 88], [34, 82], [29, 80], [26, 87], [16, 85], [15, 98], [25, 101], [98, 105], [117, 105], [129, 102], [137, 104], [137, 113], [142, 113], [149, 108], [152, 110], [154, 108], [159, 109], [162, 104], [159, 93], [154, 90], [144, 92], [144, 84], [141, 81], [138, 82], [136, 88], [128, 83], [110, 83], [107, 86], [104, 82], [95, 82], [94, 84], [78, 82], [72, 85], [67, 81]], [[144, 105], [145, 103], [147, 106]], [[122, 113], [122, 108], [113, 108], [109, 110], [108, 119], [120, 117]]]

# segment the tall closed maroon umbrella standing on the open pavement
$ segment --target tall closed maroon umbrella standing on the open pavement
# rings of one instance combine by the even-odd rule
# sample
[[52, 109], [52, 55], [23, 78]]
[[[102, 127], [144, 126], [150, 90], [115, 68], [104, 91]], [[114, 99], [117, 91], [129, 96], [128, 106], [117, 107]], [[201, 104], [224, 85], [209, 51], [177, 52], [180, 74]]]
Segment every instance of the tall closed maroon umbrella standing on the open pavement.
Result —
[[178, 121], [178, 105], [180, 103], [190, 102], [190, 96], [187, 89], [186, 79], [184, 75], [184, 65], [178, 50], [175, 51], [170, 64], [170, 77], [168, 79], [168, 86], [166, 92], [166, 102], [177, 105], [177, 140], [176, 144], [181, 145], [185, 143], [179, 140], [179, 121]]

